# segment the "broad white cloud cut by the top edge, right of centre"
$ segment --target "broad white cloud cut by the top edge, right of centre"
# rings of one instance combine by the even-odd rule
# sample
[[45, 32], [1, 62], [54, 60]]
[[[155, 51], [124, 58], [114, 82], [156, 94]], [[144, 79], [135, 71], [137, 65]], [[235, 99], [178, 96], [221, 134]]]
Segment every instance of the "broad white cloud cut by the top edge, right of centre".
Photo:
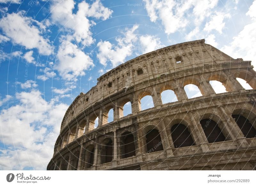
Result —
[[190, 0], [186, 3], [174, 0], [143, 1], [146, 3], [145, 7], [150, 20], [156, 22], [160, 19], [168, 35], [187, 26], [190, 20], [198, 26], [206, 17], [212, 15], [212, 9], [218, 3], [218, 0]]

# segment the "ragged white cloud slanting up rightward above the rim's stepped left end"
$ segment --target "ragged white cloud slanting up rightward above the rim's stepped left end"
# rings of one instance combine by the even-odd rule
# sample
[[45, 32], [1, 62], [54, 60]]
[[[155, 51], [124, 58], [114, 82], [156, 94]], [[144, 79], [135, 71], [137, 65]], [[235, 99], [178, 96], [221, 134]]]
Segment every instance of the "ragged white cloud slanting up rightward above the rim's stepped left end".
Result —
[[118, 66], [124, 63], [127, 56], [132, 55], [133, 43], [137, 41], [134, 31], [138, 28], [138, 25], [134, 25], [131, 29], [126, 28], [123, 32], [124, 37], [117, 37], [117, 45], [111, 44], [109, 41], [100, 41], [97, 46], [99, 53], [97, 58], [100, 60], [100, 64], [106, 66], [110, 61], [112, 66]]

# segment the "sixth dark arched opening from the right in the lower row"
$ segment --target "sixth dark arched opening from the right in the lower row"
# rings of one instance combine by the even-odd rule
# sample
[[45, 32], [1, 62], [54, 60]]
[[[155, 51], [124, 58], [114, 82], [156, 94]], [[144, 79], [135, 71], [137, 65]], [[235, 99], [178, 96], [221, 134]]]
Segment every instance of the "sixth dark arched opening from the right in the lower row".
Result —
[[104, 140], [102, 144], [102, 164], [111, 162], [113, 159], [113, 143], [110, 138]]

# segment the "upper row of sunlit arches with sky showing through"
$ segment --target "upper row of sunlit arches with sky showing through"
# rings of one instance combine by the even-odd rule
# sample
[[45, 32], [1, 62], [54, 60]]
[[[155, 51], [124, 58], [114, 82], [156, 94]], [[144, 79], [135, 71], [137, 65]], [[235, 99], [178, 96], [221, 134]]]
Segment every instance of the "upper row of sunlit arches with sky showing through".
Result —
[[[66, 144], [74, 141], [76, 137], [80, 137], [83, 134], [92, 131], [97, 127], [101, 127], [102, 125], [108, 124], [133, 112], [142, 111], [165, 103], [171, 103], [178, 100], [180, 101], [184, 98], [186, 99], [202, 96], [205, 93], [204, 88], [207, 88], [207, 86], [211, 86], [213, 89], [215, 89], [216, 85], [218, 85], [219, 88], [215, 89], [215, 93], [233, 91], [232, 84], [228, 82], [228, 80], [225, 79], [224, 76], [211, 76], [209, 80], [209, 85], [206, 83], [206, 81], [200, 84], [194, 79], [184, 81], [183, 85], [185, 85], [184, 90], [186, 95], [182, 95], [182, 89], [179, 90], [179, 88], [175, 88], [175, 86], [179, 84], [179, 82], [177, 82], [176, 84], [174, 83], [172, 85], [162, 86], [160, 89], [157, 90], [159, 91], [159, 94], [156, 93], [155, 95], [152, 95], [150, 91], [143, 91], [136, 96], [137, 100], [133, 100], [131, 95], [127, 95], [123, 100], [121, 100], [121, 102], [110, 103], [106, 106], [101, 105], [101, 109], [92, 112], [86, 117], [85, 120], [80, 122], [78, 126], [69, 128], [69, 130], [64, 135], [62, 134], [61, 140], [59, 144], [57, 144], [57, 148], [60, 150]], [[221, 82], [218, 80], [220, 80]], [[248, 83], [246, 84], [245, 80], [242, 80], [240, 78], [236, 78], [236, 80], [239, 82], [244, 81], [244, 83], [242, 83], [243, 85], [245, 85], [244, 88], [252, 89], [252, 87]], [[154, 96], [154, 100], [152, 96]], [[159, 99], [161, 100], [160, 102], [158, 101]]]

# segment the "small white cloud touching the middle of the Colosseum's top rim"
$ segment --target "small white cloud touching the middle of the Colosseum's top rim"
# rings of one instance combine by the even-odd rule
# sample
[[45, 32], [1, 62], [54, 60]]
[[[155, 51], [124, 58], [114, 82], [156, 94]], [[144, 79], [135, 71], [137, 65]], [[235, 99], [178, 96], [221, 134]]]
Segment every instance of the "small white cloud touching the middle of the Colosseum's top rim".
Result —
[[161, 44], [160, 38], [156, 38], [155, 36], [152, 36], [152, 35], [140, 36], [140, 43], [143, 48], [143, 51], [142, 51], [143, 54], [164, 47], [164, 45]]

